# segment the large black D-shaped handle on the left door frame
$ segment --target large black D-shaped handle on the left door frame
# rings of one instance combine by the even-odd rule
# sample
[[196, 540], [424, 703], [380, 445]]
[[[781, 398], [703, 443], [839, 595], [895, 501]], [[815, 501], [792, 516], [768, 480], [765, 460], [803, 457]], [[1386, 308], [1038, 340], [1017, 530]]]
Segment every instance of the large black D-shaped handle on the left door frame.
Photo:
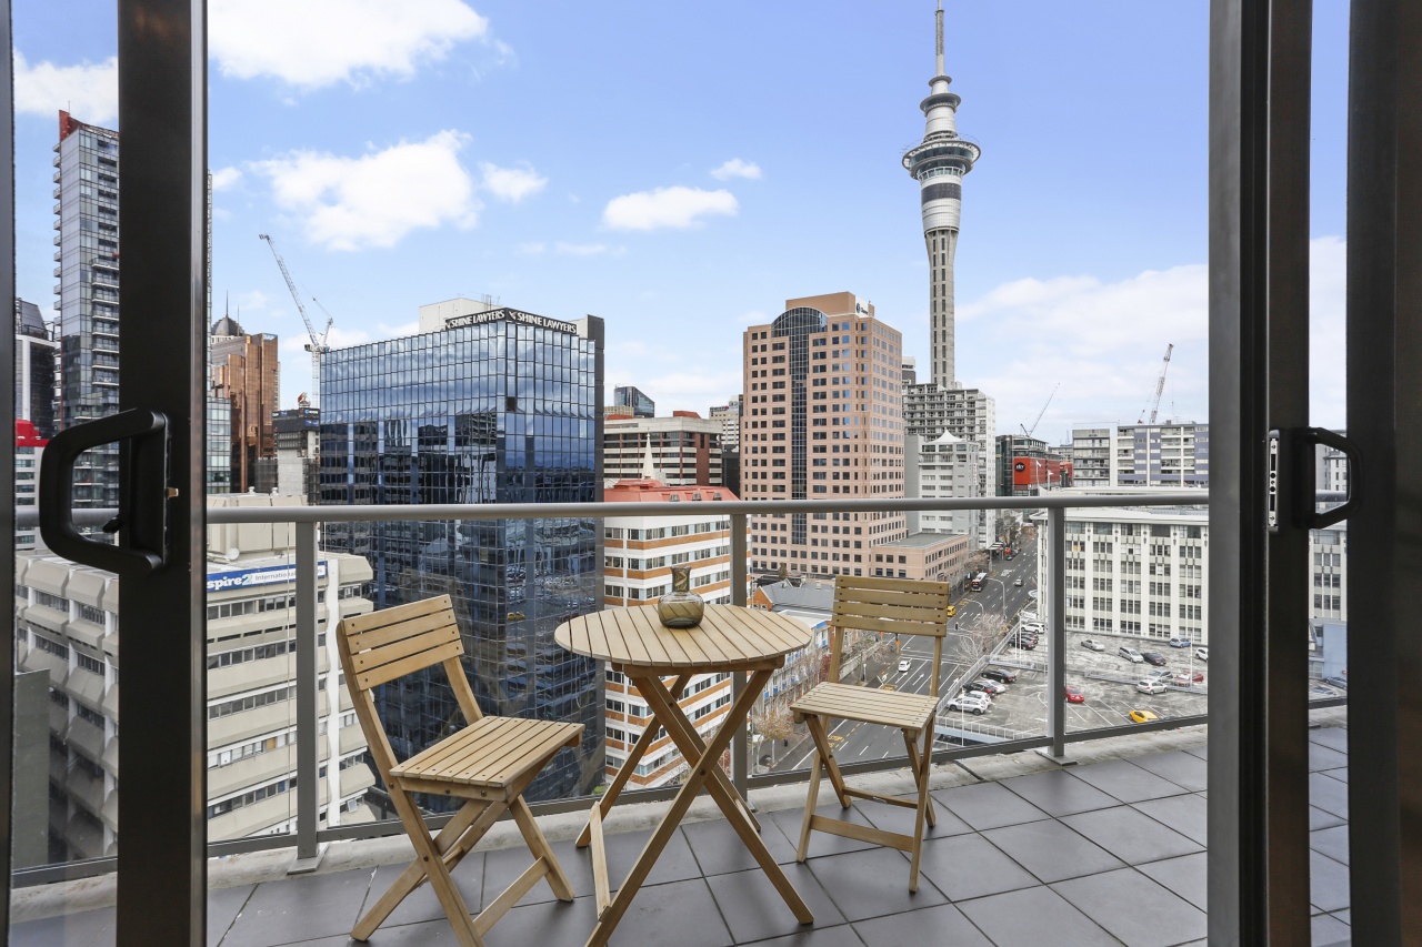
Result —
[[[74, 462], [84, 451], [119, 445], [118, 516], [104, 526], [114, 545], [84, 537], [74, 526]], [[73, 562], [119, 576], [146, 576], [168, 565], [168, 418], [121, 411], [53, 437], [40, 456], [40, 535]]]

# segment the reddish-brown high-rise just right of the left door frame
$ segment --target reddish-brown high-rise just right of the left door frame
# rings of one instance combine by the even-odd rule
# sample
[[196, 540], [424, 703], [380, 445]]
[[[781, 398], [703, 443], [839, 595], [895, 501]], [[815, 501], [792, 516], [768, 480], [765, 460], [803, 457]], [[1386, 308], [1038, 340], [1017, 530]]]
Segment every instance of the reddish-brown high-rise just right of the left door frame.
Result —
[[230, 316], [212, 326], [212, 392], [230, 405], [229, 452], [232, 489], [256, 486], [257, 461], [276, 456], [272, 414], [282, 401], [277, 338], [249, 336]]

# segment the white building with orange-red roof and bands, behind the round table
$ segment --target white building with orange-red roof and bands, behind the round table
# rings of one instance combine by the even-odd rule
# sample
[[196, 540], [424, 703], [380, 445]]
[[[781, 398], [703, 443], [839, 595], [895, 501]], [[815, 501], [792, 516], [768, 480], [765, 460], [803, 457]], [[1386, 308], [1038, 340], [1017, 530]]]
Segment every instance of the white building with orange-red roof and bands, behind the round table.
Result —
[[[691, 566], [691, 590], [707, 603], [731, 603], [731, 518], [717, 502], [735, 501], [714, 486], [668, 486], [658, 481], [621, 481], [603, 493], [609, 503], [681, 502], [685, 516], [609, 516], [603, 520], [603, 601], [607, 606], [654, 606], [671, 589], [671, 567]], [[745, 582], [745, 576], [738, 579]], [[607, 769], [610, 781], [651, 721], [647, 701], [619, 671], [604, 670]], [[701, 734], [710, 734], [731, 705], [729, 674], [697, 674], [678, 701]], [[685, 761], [667, 735], [658, 737], [633, 769], [636, 788], [674, 782]]]

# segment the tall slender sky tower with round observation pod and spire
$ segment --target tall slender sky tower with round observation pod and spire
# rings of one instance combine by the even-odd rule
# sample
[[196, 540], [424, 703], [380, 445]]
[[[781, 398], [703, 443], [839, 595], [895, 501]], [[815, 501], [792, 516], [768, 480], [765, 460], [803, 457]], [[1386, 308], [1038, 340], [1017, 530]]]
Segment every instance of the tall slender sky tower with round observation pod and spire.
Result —
[[943, 73], [943, 0], [936, 14], [937, 73], [929, 80], [929, 98], [919, 104], [927, 119], [923, 141], [903, 156], [903, 166], [919, 182], [923, 205], [923, 243], [929, 250], [929, 324], [931, 328], [931, 380], [951, 388], [953, 374], [953, 253], [958, 246], [958, 216], [963, 210], [963, 175], [983, 151], [958, 138], [957, 109], [961, 98], [948, 91], [953, 82]]

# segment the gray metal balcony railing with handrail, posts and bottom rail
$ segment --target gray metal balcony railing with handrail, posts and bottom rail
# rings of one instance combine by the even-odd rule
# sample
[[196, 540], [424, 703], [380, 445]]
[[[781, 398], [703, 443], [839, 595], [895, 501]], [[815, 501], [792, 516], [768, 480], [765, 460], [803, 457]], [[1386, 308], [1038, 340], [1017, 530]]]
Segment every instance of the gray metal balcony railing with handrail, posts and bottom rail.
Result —
[[[714, 493], [714, 488], [705, 493]], [[732, 582], [732, 604], [747, 604], [747, 583], [744, 577], [749, 574], [747, 516], [749, 515], [778, 515], [778, 513], [884, 513], [884, 512], [953, 512], [953, 510], [981, 510], [981, 509], [1021, 509], [1048, 510], [1048, 530], [1061, 542], [1065, 532], [1066, 509], [1101, 509], [1101, 508], [1140, 508], [1140, 506], [1206, 506], [1209, 495], [1206, 491], [1179, 491], [1169, 493], [1102, 493], [1102, 495], [1058, 495], [1044, 496], [991, 496], [991, 498], [896, 498], [896, 499], [822, 499], [822, 501], [701, 501], [714, 506], [717, 515], [724, 515], [731, 520], [731, 574], [741, 576], [742, 580]], [[297, 793], [297, 828], [292, 835], [272, 835], [252, 839], [236, 839], [232, 842], [216, 842], [208, 846], [209, 856], [232, 855], [237, 852], [256, 852], [267, 849], [290, 847], [296, 843], [297, 862], [310, 867], [321, 855], [328, 842], [341, 839], [375, 838], [398, 835], [402, 826], [398, 820], [380, 820], [353, 826], [338, 826], [321, 829], [319, 819], [319, 802], [314, 792], [317, 781], [311, 774], [319, 766], [316, 732], [319, 729], [317, 717], [317, 678], [316, 674], [316, 560], [319, 549], [316, 528], [320, 523], [334, 522], [410, 522], [410, 520], [499, 520], [499, 519], [606, 519], [614, 516], [685, 516], [691, 509], [700, 506], [697, 501], [687, 502], [657, 502], [657, 503], [421, 503], [421, 505], [341, 505], [341, 506], [213, 506], [208, 508], [209, 525], [228, 523], [294, 523], [297, 526], [297, 540], [294, 543], [294, 557], [297, 567], [297, 596], [299, 603], [309, 607], [297, 609], [297, 786], [309, 786], [309, 792]], [[74, 510], [77, 525], [101, 525], [112, 519], [115, 510], [87, 509]], [[37, 515], [33, 508], [16, 510], [16, 525], [21, 529], [37, 525]], [[1048, 589], [1047, 603], [1058, 603], [1057, 609], [1048, 609], [1055, 620], [1051, 623], [1054, 646], [1049, 648], [1048, 664], [1049, 677], [1061, 677], [1058, 656], [1065, 651], [1065, 624], [1061, 621], [1061, 592], [1064, 576], [1061, 569], [1061, 555], [1048, 557]], [[1055, 567], [1054, 567], [1055, 566]], [[1055, 594], [1054, 594], [1055, 593]], [[309, 603], [306, 600], [310, 599]], [[738, 694], [745, 687], [745, 674], [732, 675], [732, 692]], [[1059, 687], [1058, 687], [1059, 690]], [[732, 697], [734, 700], [734, 697]], [[1322, 705], [1322, 704], [1320, 704]], [[1055, 708], [1054, 701], [1048, 707]], [[1170, 727], [1187, 727], [1206, 722], [1204, 717], [1173, 718], [1150, 725], [1123, 725], [1113, 728], [1094, 728], [1089, 731], [1065, 731], [1065, 715], [1051, 714], [1048, 731], [1042, 737], [1014, 739], [985, 747], [956, 747], [937, 748], [933, 752], [934, 762], [950, 759], [964, 759], [984, 754], [1015, 752], [1022, 749], [1047, 749], [1054, 758], [1065, 754], [1065, 745], [1085, 739], [1115, 737], [1128, 732], [1148, 732]], [[747, 761], [749, 756], [748, 728], [744, 721], [738, 724], [738, 732], [732, 744], [731, 764], [732, 782], [744, 795], [751, 786], [771, 786], [788, 782], [799, 782], [808, 778], [806, 771], [791, 771], [784, 774], [768, 774], [751, 776]], [[846, 774], [875, 772], [896, 769], [903, 765], [902, 758], [886, 758], [882, 761], [866, 761], [859, 764], [842, 764]], [[640, 789], [624, 792], [629, 801], [658, 801], [671, 798], [675, 788]], [[552, 802], [532, 803], [535, 815], [553, 812], [567, 812], [586, 808], [587, 798], [559, 799]], [[431, 826], [442, 825], [448, 816], [429, 816]], [[112, 870], [104, 867], [111, 865], [111, 859], [95, 859], [91, 863], [65, 863], [58, 866], [44, 866], [26, 872], [17, 872], [14, 883], [38, 884], [58, 877], [73, 877], [88, 873], [85, 867], [92, 867], [94, 873]]]

